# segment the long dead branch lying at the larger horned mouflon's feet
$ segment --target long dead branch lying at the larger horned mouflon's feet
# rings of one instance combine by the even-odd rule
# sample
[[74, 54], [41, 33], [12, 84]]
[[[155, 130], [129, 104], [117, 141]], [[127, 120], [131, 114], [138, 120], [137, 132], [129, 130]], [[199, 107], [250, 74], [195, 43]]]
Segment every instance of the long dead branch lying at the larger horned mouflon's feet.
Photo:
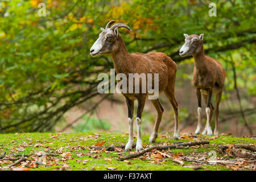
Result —
[[171, 144], [168, 146], [163, 146], [163, 145], [156, 145], [156, 146], [150, 146], [147, 147], [139, 152], [136, 152], [134, 154], [129, 154], [126, 156], [123, 156], [121, 158], [118, 158], [118, 160], [122, 161], [122, 160], [126, 160], [126, 159], [131, 159], [131, 158], [135, 158], [137, 156], [141, 156], [143, 154], [145, 154], [146, 152], [149, 152], [153, 149], [157, 149], [157, 150], [166, 150], [168, 148], [176, 148], [178, 146], [196, 146], [196, 145], [200, 145], [200, 144], [209, 144], [209, 141], [207, 140], [197, 140], [197, 141], [192, 141], [192, 142], [184, 142], [184, 143], [177, 143], [177, 144]]

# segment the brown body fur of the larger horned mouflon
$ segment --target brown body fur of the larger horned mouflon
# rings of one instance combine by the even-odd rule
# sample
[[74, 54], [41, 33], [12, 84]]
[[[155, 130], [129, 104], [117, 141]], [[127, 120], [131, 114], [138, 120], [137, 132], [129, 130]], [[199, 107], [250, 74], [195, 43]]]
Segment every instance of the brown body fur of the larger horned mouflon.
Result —
[[[138, 73], [138, 74], [159, 73], [159, 93], [164, 91], [164, 93], [170, 100], [172, 106], [174, 107], [174, 111], [176, 115], [175, 126], [176, 126], [176, 130], [178, 130], [178, 126], [177, 126], [178, 104], [174, 96], [175, 77], [176, 77], [176, 71], [177, 71], [176, 63], [170, 57], [168, 57], [165, 53], [162, 53], [162, 52], [150, 52], [145, 54], [138, 53], [138, 52], [129, 53], [125, 48], [125, 43], [123, 42], [121, 35], [119, 35], [117, 42], [118, 42], [118, 46], [117, 46], [118, 51], [110, 54], [113, 58], [115, 71], [117, 73], [126, 74], [127, 78], [129, 77], [128, 75], [129, 73]], [[154, 82], [152, 83], [152, 85], [154, 85]], [[127, 82], [127, 86], [128, 86], [128, 82]], [[123, 93], [123, 96], [126, 96], [126, 98], [129, 98], [130, 100], [137, 100], [139, 98], [142, 98], [143, 100], [142, 102], [146, 100], [146, 97], [142, 96], [141, 93]], [[160, 121], [162, 118], [163, 107], [160, 104], [160, 101], [158, 99], [156, 101], [152, 100], [152, 103], [154, 104], [154, 106], [156, 107], [156, 110], [158, 111], [158, 119], [156, 119], [155, 128], [154, 128], [154, 131], [156, 133], [156, 136], [154, 138], [156, 138]], [[139, 111], [139, 113], [137, 113], [137, 116], [139, 116], [139, 118], [141, 118], [141, 115], [142, 115], [142, 110]]]

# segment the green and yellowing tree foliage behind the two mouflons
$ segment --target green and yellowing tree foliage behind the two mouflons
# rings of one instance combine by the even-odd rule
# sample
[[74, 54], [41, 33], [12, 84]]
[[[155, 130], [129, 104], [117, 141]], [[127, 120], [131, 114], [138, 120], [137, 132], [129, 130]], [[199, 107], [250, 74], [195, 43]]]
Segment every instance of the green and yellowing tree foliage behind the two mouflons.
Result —
[[[38, 15], [39, 2], [46, 16]], [[177, 52], [183, 33], [204, 33], [205, 51], [227, 71], [227, 52], [236, 53], [238, 86], [255, 94], [255, 1], [214, 2], [217, 17], [203, 1], [1, 1], [0, 132], [51, 131], [71, 107], [98, 94], [97, 74], [113, 63], [93, 59], [89, 49], [112, 19], [131, 27], [120, 29], [129, 52], [165, 52], [177, 63], [189, 59]], [[226, 89], [233, 89], [231, 74]]]

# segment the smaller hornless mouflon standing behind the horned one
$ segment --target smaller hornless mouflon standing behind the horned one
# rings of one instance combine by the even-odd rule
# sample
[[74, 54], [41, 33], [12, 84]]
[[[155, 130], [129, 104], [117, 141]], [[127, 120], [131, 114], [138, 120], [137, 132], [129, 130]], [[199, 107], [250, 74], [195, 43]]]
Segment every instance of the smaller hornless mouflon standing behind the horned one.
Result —
[[213, 105], [210, 101], [212, 94], [216, 94], [216, 117], [214, 135], [218, 134], [218, 106], [221, 101], [221, 94], [225, 84], [225, 70], [220, 62], [212, 59], [204, 54], [203, 39], [204, 34], [201, 35], [187, 35], [185, 36], [185, 43], [180, 48], [180, 56], [193, 56], [194, 70], [193, 70], [193, 85], [196, 88], [196, 96], [198, 101], [198, 121], [195, 134], [200, 134], [201, 131], [201, 96], [203, 96], [207, 108], [207, 123], [202, 134], [212, 135], [212, 128], [210, 127], [210, 120], [213, 115]]

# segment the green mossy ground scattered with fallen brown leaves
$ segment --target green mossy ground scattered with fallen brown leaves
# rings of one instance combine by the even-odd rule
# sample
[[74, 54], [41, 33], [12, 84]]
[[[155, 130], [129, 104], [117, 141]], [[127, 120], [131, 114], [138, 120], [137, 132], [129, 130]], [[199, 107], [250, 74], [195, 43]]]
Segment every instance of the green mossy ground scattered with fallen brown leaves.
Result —
[[[172, 159], [165, 158], [164, 163], [151, 163], [152, 160], [141, 160], [138, 158], [129, 159], [131, 164], [118, 161], [118, 152], [101, 152], [99, 154], [90, 154], [90, 151], [87, 147], [94, 146], [96, 142], [106, 141], [104, 146], [125, 144], [128, 139], [128, 135], [124, 133], [61, 133], [60, 136], [56, 138], [51, 138], [57, 133], [19, 133], [19, 134], [0, 134], [0, 153], [6, 152], [6, 155], [9, 154], [35, 154], [38, 151], [45, 152], [54, 152], [61, 148], [64, 152], [71, 152], [72, 159], [67, 161], [57, 161], [53, 166], [49, 165], [40, 165], [36, 168], [30, 168], [30, 170], [56, 170], [60, 169], [61, 165], [68, 164], [69, 169], [72, 170], [107, 170], [107, 167], [115, 167], [117, 170], [193, 170], [186, 166], [191, 165], [191, 162], [184, 162], [184, 167], [181, 167], [179, 164], [172, 162]], [[150, 135], [142, 135], [143, 144], [146, 146], [150, 144], [148, 142]], [[159, 138], [156, 139], [156, 144], [168, 142], [188, 142], [192, 139], [182, 139], [182, 140], [171, 140], [172, 134], [165, 133], [162, 135], [159, 134]], [[200, 139], [209, 139], [207, 136], [200, 135]], [[136, 141], [136, 139], [135, 139]], [[203, 146], [199, 148], [180, 148], [172, 150], [172, 153], [183, 152], [184, 155], [192, 156], [193, 154], [205, 154], [208, 155], [209, 151], [216, 151], [218, 154], [217, 146], [218, 144], [229, 144], [229, 143], [253, 143], [255, 144], [255, 139], [250, 138], [235, 138], [226, 135], [218, 135], [216, 139], [209, 140], [210, 144], [208, 146]], [[42, 146], [35, 147], [35, 144], [40, 143]], [[22, 147], [23, 151], [19, 151], [18, 148]], [[133, 150], [134, 151], [134, 150]], [[78, 153], [82, 153], [80, 157], [77, 156]], [[86, 155], [87, 154], [87, 155]], [[90, 154], [90, 155], [89, 155]], [[125, 152], [124, 154], [130, 154], [130, 152]], [[97, 159], [93, 158], [93, 155], [102, 155]], [[223, 157], [223, 156], [221, 156]], [[61, 159], [61, 154], [56, 158]], [[112, 159], [106, 160], [105, 158]], [[226, 158], [229, 158], [228, 156]], [[161, 161], [162, 159], [154, 159]], [[84, 163], [83, 163], [84, 162]], [[7, 166], [8, 164], [0, 163], [0, 167]], [[210, 170], [231, 170], [225, 166], [210, 166], [204, 165], [205, 168]], [[6, 168], [7, 169], [7, 168]], [[204, 169], [200, 169], [204, 170]]]

